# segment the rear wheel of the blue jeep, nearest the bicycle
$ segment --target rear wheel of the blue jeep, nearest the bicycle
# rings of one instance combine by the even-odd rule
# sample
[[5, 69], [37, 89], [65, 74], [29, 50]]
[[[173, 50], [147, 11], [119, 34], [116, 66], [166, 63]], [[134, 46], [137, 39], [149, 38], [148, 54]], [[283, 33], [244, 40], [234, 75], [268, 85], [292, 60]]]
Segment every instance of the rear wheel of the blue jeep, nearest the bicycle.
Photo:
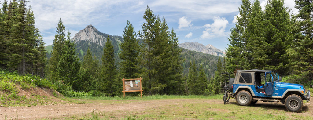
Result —
[[251, 103], [252, 96], [248, 91], [243, 90], [237, 93], [236, 100], [239, 105], [247, 106]]

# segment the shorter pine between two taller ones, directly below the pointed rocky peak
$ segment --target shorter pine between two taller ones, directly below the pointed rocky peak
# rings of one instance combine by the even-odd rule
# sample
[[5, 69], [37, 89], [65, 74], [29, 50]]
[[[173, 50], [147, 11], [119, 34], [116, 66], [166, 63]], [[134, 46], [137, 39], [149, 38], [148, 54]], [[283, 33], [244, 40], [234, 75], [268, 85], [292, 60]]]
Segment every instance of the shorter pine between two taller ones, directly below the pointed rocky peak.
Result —
[[85, 92], [95, 90], [96, 85], [94, 82], [96, 79], [98, 79], [97, 76], [99, 75], [99, 65], [99, 60], [92, 55], [90, 47], [88, 47], [82, 62], [82, 70], [80, 73], [82, 88]]

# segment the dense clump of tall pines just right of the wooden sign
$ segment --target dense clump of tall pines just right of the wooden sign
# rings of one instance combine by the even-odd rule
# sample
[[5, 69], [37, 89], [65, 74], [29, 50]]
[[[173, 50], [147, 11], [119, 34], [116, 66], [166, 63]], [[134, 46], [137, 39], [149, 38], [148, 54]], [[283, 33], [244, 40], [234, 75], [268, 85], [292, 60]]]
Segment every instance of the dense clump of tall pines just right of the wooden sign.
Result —
[[[148, 94], [177, 94], [182, 93], [183, 81], [181, 79], [182, 59], [178, 54], [177, 37], [175, 32], [169, 32], [165, 18], [162, 21], [154, 15], [149, 7], [146, 8], [141, 26], [137, 35], [143, 38], [142, 45], [142, 74], [144, 92]], [[177, 59], [174, 63], [172, 60]], [[178, 86], [175, 86], [177, 83]], [[171, 92], [178, 88], [179, 91]]]

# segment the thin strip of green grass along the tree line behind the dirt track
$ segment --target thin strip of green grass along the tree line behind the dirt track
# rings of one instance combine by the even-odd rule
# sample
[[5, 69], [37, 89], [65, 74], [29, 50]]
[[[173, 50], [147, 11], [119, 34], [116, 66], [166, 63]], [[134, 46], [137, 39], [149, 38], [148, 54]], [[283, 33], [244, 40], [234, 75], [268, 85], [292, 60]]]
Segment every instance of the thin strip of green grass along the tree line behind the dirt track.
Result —
[[93, 99], [93, 100], [155, 100], [155, 99], [223, 99], [223, 95], [151, 95], [140, 97], [126, 96], [124, 97], [106, 97], [106, 96], [85, 96], [85, 97], [73, 97], [77, 99]]

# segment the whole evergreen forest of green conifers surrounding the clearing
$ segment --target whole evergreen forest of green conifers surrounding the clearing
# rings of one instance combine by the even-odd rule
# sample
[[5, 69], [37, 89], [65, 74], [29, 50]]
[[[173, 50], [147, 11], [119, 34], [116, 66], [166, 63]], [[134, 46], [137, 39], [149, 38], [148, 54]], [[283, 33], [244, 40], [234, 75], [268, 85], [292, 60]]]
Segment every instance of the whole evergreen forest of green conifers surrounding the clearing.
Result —
[[149, 6], [140, 31], [127, 21], [122, 37], [99, 32], [107, 37], [103, 48], [72, 42], [60, 18], [50, 53], [27, 2], [1, 3], [0, 69], [46, 78], [64, 96], [122, 96], [121, 79], [139, 77], [144, 96], [219, 94], [228, 79], [222, 73], [247, 69], [273, 70], [284, 82], [313, 88], [312, 0], [295, 0], [298, 14], [283, 0], [269, 0], [264, 10], [259, 0], [242, 0], [225, 58], [178, 47], [174, 29]]

